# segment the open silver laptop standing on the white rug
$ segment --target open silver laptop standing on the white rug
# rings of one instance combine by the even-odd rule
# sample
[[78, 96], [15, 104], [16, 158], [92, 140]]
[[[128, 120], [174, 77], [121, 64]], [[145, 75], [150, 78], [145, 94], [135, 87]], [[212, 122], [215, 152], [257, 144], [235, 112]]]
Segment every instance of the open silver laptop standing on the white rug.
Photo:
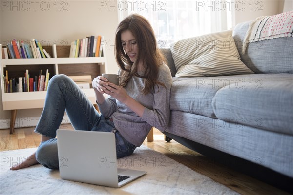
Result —
[[62, 179], [118, 188], [146, 174], [117, 168], [112, 132], [58, 129], [57, 137]]

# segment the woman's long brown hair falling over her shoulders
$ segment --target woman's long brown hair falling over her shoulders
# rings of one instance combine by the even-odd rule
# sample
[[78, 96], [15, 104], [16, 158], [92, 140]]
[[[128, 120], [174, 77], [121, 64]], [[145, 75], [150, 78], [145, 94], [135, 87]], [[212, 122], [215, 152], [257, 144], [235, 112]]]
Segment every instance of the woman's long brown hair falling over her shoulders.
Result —
[[[135, 37], [139, 49], [137, 59], [134, 62], [131, 62], [122, 46], [121, 33], [126, 30], [129, 30]], [[159, 65], [165, 63], [166, 60], [158, 49], [154, 31], [146, 18], [138, 14], [131, 14], [119, 23], [115, 38], [115, 57], [123, 71], [123, 79], [121, 79], [120, 83], [123, 87], [126, 86], [132, 76], [144, 78], [144, 95], [152, 90], [154, 91], [156, 84], [165, 86], [158, 81], [158, 72]], [[139, 61], [143, 62], [144, 75], [140, 75], [138, 72]]]

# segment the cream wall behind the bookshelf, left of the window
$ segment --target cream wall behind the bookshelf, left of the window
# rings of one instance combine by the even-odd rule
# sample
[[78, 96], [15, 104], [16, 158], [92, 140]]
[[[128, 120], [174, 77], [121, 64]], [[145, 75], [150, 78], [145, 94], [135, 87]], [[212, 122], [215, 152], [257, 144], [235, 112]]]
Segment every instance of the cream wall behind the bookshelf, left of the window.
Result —
[[[117, 73], [114, 58], [114, 37], [118, 24], [115, 1], [108, 7], [107, 1], [97, 0], [0, 0], [0, 40], [28, 40], [31, 38], [50, 45], [70, 45], [76, 39], [89, 35], [104, 35], [107, 41], [107, 72]], [[57, 6], [58, 5], [58, 6]], [[1, 73], [2, 74], [2, 73]], [[0, 95], [0, 128], [9, 126], [10, 111], [3, 111]], [[27, 125], [27, 119], [35, 121], [42, 109], [19, 110], [16, 127]], [[31, 123], [31, 122], [30, 122]]]

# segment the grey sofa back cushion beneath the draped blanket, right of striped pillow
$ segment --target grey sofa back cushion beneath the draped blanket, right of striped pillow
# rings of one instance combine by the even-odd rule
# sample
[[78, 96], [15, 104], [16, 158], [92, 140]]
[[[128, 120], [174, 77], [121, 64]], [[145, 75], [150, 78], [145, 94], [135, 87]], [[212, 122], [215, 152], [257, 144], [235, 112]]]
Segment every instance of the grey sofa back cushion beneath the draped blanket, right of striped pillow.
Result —
[[233, 31], [241, 60], [255, 73], [293, 73], [293, 37], [282, 37], [248, 44], [242, 54], [243, 40], [250, 22], [237, 24]]

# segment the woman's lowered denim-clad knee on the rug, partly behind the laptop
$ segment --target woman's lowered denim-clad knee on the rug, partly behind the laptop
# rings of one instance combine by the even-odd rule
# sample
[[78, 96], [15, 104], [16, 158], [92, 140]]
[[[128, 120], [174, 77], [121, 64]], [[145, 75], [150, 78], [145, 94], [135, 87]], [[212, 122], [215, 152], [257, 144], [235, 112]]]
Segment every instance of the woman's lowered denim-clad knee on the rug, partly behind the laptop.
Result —
[[59, 162], [57, 140], [50, 139], [42, 142], [36, 151], [36, 159], [44, 167], [49, 169], [58, 169]]

